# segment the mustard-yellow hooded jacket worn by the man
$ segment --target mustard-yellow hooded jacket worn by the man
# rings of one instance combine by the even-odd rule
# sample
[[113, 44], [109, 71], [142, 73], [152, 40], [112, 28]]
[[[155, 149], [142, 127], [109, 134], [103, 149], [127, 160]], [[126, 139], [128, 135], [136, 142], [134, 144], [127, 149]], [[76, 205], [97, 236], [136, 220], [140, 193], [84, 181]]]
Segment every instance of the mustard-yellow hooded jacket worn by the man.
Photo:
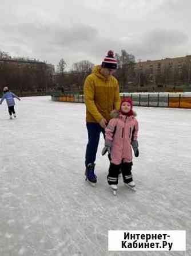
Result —
[[114, 76], [106, 78], [100, 73], [100, 69], [100, 65], [95, 66], [84, 83], [86, 122], [100, 123], [103, 118], [109, 122], [110, 112], [120, 108], [117, 79]]

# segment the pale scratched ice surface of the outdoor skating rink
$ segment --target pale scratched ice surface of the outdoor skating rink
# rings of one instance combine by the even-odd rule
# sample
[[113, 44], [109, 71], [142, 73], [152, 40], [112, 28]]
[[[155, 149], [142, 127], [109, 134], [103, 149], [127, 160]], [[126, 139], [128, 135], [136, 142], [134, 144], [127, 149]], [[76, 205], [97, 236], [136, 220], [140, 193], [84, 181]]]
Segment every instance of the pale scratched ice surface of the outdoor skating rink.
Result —
[[[15, 102], [17, 99], [15, 100]], [[96, 187], [84, 179], [85, 105], [21, 98], [17, 119], [0, 106], [1, 256], [191, 255], [191, 110], [134, 107], [137, 191], [113, 196], [101, 156]], [[186, 230], [184, 251], [108, 251], [108, 230]]]

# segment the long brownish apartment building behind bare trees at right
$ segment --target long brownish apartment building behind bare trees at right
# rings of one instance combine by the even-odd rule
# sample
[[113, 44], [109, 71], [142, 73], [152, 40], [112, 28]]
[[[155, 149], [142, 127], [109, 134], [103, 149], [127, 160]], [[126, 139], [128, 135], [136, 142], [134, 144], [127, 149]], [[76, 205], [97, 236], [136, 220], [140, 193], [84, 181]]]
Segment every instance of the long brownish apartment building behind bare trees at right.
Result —
[[[190, 87], [191, 84], [191, 55], [161, 60], [139, 60], [134, 71], [137, 75], [136, 90], [181, 91], [183, 87]], [[135, 86], [132, 89], [135, 89]]]

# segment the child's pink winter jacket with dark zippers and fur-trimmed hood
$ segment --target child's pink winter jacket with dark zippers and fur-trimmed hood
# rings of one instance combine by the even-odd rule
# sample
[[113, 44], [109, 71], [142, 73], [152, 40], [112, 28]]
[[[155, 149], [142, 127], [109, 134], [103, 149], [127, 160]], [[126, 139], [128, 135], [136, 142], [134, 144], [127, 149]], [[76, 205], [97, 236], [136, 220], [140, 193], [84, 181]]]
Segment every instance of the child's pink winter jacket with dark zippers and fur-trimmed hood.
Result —
[[[113, 135], [114, 134], [114, 135]], [[131, 115], [120, 114], [118, 118], [110, 120], [105, 129], [105, 139], [112, 141], [111, 157], [113, 164], [121, 164], [124, 162], [132, 162], [132, 146], [131, 142], [137, 140], [138, 122], [137, 119]]]

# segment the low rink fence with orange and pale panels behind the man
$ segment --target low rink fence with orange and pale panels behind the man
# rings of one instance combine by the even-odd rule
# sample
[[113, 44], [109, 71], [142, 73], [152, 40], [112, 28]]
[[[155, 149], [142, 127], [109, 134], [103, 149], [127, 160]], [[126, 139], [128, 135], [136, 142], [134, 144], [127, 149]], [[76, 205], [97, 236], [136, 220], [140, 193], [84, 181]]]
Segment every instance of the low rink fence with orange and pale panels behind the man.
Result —
[[[162, 93], [122, 93], [121, 98], [130, 97], [134, 106], [141, 107], [178, 107], [191, 108], [191, 94], [162, 94]], [[84, 103], [82, 94], [64, 95], [61, 93], [52, 93], [51, 99], [59, 102]]]

